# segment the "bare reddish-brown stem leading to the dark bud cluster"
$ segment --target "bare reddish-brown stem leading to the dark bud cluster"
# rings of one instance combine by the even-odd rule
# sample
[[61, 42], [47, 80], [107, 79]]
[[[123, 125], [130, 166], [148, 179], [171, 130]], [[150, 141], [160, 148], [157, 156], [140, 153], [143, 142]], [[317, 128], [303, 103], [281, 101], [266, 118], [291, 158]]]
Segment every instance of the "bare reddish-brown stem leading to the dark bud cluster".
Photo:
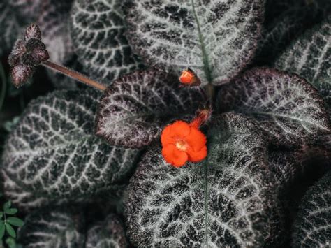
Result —
[[43, 61], [43, 63], [41, 63], [41, 64], [47, 68], [52, 69], [53, 71], [67, 75], [70, 78], [83, 82], [84, 84], [94, 87], [96, 89], [100, 89], [101, 91], [105, 91], [105, 89], [107, 88], [107, 87], [105, 87], [105, 85], [101, 85], [101, 83], [91, 80], [91, 78], [87, 78], [87, 76], [82, 75], [81, 73], [78, 73], [77, 71], [73, 71], [73, 70], [71, 70], [65, 66], [61, 66], [59, 64], [55, 64], [52, 61], [49, 61], [49, 60]]

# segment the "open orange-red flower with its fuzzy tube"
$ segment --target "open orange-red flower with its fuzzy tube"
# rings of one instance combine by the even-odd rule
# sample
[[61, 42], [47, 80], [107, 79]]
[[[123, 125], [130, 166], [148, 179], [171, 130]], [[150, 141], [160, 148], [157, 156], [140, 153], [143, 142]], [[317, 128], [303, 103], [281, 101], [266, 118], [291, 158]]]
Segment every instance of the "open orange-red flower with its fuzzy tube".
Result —
[[207, 156], [206, 136], [199, 130], [199, 126], [209, 117], [209, 110], [207, 115], [203, 111], [191, 124], [177, 121], [163, 129], [162, 155], [172, 166], [181, 167], [187, 161], [198, 162]]

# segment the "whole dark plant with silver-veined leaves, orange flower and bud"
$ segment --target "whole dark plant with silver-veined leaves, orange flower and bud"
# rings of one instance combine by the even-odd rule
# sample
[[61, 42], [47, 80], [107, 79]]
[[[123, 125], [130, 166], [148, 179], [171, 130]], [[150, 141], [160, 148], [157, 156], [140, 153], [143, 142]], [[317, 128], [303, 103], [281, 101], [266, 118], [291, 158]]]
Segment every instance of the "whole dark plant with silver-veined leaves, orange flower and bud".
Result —
[[[328, 214], [319, 209], [330, 200], [317, 203], [330, 176], [294, 225], [289, 205], [311, 154], [330, 166], [328, 1], [311, 3], [309, 23], [302, 1], [32, 2], [0, 3], [14, 82], [17, 66], [34, 61], [99, 90], [66, 86], [32, 100], [6, 138], [3, 191], [27, 213], [22, 245], [300, 246], [300, 226], [318, 228], [304, 214]], [[15, 43], [30, 22], [38, 26], [25, 37], [38, 42]], [[68, 61], [89, 78], [59, 65]]]

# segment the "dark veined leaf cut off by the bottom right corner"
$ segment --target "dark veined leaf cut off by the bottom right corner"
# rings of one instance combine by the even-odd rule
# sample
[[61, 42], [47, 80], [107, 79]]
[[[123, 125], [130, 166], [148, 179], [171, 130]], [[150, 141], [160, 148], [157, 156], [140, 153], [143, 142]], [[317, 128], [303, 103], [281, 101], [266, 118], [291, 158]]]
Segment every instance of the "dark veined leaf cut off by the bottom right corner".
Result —
[[330, 247], [331, 173], [302, 198], [293, 226], [292, 247]]

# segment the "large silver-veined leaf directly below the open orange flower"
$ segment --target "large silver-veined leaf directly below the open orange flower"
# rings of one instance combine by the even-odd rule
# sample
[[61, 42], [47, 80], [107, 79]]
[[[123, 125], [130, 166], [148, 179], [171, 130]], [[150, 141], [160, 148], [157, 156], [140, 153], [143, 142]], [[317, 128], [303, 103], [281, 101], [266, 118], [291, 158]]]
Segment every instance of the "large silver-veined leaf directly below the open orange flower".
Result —
[[[128, 235], [138, 247], [260, 247], [270, 235], [273, 182], [263, 136], [240, 115], [209, 124], [208, 156], [174, 168], [151, 147], [131, 177]], [[273, 237], [268, 237], [273, 238]]]

